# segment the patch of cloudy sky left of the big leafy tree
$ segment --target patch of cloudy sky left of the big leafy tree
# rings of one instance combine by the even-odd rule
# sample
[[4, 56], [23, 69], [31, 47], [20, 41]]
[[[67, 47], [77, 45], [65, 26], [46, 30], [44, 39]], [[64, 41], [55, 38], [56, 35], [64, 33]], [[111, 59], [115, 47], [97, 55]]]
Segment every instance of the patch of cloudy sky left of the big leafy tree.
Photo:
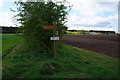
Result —
[[[11, 12], [10, 8], [14, 7], [13, 3], [14, 1], [18, 0], [1, 0], [0, 4], [2, 3], [2, 6], [0, 6], [0, 26], [20, 26], [18, 22], [16, 22], [13, 18], [13, 16], [16, 14], [15, 12]], [[8, 4], [8, 5], [5, 5]]]

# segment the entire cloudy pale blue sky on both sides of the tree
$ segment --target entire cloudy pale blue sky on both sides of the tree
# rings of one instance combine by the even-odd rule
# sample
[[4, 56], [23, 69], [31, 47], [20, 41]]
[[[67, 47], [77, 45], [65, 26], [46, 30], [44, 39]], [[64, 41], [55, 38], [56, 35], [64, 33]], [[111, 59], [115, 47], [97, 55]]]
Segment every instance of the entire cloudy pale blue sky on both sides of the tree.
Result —
[[[14, 21], [15, 0], [0, 0], [0, 26], [19, 26]], [[72, 6], [66, 25], [69, 30], [118, 31], [119, 0], [67, 0]]]

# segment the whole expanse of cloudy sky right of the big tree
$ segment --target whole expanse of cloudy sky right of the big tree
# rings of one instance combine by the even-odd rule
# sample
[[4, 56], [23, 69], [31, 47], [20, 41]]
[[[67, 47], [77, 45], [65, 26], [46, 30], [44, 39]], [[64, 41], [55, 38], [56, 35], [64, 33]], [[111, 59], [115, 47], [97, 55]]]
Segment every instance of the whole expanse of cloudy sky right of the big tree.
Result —
[[69, 1], [73, 4], [67, 23], [69, 29], [117, 29], [113, 24], [117, 24], [118, 20], [118, 0]]

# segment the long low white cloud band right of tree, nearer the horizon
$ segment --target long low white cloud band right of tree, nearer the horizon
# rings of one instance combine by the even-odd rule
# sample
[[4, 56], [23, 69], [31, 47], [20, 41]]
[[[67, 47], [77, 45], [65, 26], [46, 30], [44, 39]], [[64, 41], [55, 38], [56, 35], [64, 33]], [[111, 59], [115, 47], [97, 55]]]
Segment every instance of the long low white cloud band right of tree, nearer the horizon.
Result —
[[[93, 17], [81, 17], [77, 14], [71, 14], [70, 17], [68, 18], [68, 24], [70, 26], [72, 25], [82, 25], [82, 26], [98, 26], [99, 25], [104, 25], [103, 27], [105, 27], [105, 24], [110, 24], [109, 21], [111, 20], [117, 20], [118, 19], [118, 15], [110, 15], [108, 17], [101, 17], [101, 16], [93, 16]], [[73, 23], [74, 22], [74, 23]], [[101, 27], [102, 27], [101, 26]]]

